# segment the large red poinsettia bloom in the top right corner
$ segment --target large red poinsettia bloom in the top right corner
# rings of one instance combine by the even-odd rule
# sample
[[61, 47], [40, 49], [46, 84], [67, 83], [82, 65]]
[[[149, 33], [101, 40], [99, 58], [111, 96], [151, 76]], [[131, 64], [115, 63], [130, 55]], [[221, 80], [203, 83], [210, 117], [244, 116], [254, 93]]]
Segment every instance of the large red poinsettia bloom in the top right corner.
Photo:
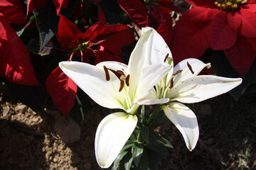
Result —
[[[233, 69], [244, 77], [256, 57], [255, 0], [248, 0], [246, 4], [235, 4], [236, 1], [221, 4], [218, 0], [186, 1], [193, 8], [183, 13], [174, 27], [170, 47], [175, 61], [200, 57], [209, 47], [224, 50]], [[245, 52], [245, 47], [250, 50]], [[238, 53], [234, 52], [235, 49]]]

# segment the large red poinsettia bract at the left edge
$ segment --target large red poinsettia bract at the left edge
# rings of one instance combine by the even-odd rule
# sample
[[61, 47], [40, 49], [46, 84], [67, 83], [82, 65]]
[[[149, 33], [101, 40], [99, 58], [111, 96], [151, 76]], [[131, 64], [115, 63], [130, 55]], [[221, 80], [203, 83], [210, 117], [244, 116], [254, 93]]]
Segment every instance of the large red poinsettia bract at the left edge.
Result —
[[0, 76], [15, 84], [38, 86], [30, 60], [30, 51], [23, 44], [6, 18], [0, 13]]

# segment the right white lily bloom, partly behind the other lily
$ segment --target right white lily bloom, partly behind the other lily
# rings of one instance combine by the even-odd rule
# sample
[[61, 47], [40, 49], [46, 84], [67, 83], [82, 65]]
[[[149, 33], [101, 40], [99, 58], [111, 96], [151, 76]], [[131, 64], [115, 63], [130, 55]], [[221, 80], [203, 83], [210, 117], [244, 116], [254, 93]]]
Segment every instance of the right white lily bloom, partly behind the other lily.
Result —
[[[148, 29], [144, 29], [142, 33]], [[161, 42], [161, 35], [156, 32], [154, 39], [158, 39], [158, 41], [154, 41], [153, 48], [157, 47], [159, 43], [164, 44]], [[157, 61], [172, 64], [173, 59], [169, 53], [169, 56], [161, 57]], [[205, 64], [197, 59], [186, 59], [179, 62], [164, 79], [159, 81], [156, 88], [151, 89], [151, 93], [146, 96], [147, 99], [139, 102], [140, 104], [161, 103], [161, 109], [181, 132], [186, 147], [190, 151], [196, 147], [198, 141], [198, 122], [193, 111], [182, 103], [204, 101], [224, 94], [242, 83], [240, 78], [230, 79], [213, 75], [198, 75], [205, 67], [209, 68], [210, 63]]]

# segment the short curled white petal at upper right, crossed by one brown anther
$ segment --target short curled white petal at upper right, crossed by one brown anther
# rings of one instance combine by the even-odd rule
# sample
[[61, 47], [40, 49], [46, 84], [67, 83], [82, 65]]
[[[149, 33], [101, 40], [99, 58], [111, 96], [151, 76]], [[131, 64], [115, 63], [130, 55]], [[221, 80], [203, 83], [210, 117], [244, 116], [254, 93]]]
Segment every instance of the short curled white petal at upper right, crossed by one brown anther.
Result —
[[[191, 65], [191, 68], [194, 74], [192, 74], [191, 71], [188, 69], [187, 62]], [[176, 84], [177, 81], [184, 81], [191, 77], [196, 77], [205, 67], [210, 68], [210, 63], [205, 64], [201, 62], [201, 60], [194, 59], [194, 58], [182, 60], [181, 62], [176, 64], [176, 66], [174, 67], [174, 73], [177, 72], [178, 70], [181, 70], [181, 69], [183, 70], [174, 79], [174, 84]]]

